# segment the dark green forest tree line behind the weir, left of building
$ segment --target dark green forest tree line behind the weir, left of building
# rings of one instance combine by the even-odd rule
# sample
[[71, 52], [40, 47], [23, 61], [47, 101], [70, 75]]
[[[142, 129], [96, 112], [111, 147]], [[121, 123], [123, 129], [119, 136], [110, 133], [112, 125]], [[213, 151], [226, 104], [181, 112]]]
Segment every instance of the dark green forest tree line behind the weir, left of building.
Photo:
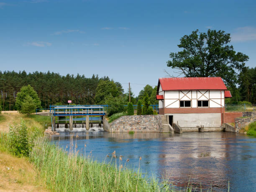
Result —
[[[66, 76], [54, 72], [26, 73], [14, 71], [0, 71], [0, 105], [2, 110], [17, 110], [17, 93], [23, 86], [31, 85], [41, 101], [40, 108], [49, 108], [50, 105], [66, 105], [68, 100], [77, 105], [95, 105], [115, 103], [127, 105], [128, 91], [124, 92], [122, 85], [109, 77], [92, 77], [67, 74]], [[131, 90], [130, 90], [131, 91]], [[157, 104], [156, 87], [146, 85], [138, 97], [131, 91], [131, 102], [136, 104], [143, 95], [147, 94], [150, 104]], [[38, 107], [38, 106], [37, 106]], [[39, 107], [38, 107], [39, 108]]]

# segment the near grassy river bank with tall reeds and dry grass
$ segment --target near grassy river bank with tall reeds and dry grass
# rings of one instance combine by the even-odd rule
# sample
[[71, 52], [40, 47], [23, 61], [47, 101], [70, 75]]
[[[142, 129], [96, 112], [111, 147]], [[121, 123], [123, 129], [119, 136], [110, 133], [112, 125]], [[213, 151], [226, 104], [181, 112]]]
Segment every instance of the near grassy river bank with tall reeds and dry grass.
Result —
[[[20, 118], [20, 115], [15, 114], [12, 117], [8, 115], [11, 114], [3, 115], [5, 118], [0, 122], [2, 127], [6, 125], [7, 119], [16, 122], [17, 118]], [[41, 125], [40, 130], [44, 130], [42, 119], [33, 116], [26, 118], [26, 122], [32, 122], [30, 125], [35, 121]], [[44, 138], [38, 138], [30, 156], [18, 158], [8, 151], [8, 130], [6, 128], [4, 130], [5, 133], [3, 130], [0, 133], [0, 167], [2, 168], [0, 177], [1, 181], [6, 181], [0, 185], [3, 190], [179, 191], [165, 179], [160, 182], [150, 175], [145, 176], [140, 169], [135, 171], [128, 169], [126, 164], [129, 159], [123, 159], [122, 156], [115, 154], [115, 151], [111, 154], [111, 161], [102, 163], [93, 160], [90, 153], [89, 156], [79, 154], [75, 143], [77, 137], [70, 144], [71, 151], [65, 151], [65, 148], [59, 148]], [[33, 127], [29, 126], [28, 133], [31, 130]], [[141, 157], [137, 160], [140, 166]], [[12, 179], [13, 177], [17, 179]], [[186, 191], [191, 189], [188, 187]]]

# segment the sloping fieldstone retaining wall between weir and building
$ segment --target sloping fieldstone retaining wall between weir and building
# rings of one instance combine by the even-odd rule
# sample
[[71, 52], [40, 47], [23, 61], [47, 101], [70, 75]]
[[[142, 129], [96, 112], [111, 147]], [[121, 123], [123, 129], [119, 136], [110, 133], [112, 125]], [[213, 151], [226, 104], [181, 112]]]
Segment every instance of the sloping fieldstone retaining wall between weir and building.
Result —
[[161, 132], [160, 115], [122, 116], [110, 123], [110, 132]]

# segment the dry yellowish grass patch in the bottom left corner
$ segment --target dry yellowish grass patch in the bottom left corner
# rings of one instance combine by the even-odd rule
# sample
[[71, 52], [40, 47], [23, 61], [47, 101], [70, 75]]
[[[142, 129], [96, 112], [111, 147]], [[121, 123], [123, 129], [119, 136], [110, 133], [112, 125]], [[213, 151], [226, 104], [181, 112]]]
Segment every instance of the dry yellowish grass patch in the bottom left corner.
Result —
[[28, 157], [8, 152], [6, 136], [0, 132], [0, 191], [49, 191]]

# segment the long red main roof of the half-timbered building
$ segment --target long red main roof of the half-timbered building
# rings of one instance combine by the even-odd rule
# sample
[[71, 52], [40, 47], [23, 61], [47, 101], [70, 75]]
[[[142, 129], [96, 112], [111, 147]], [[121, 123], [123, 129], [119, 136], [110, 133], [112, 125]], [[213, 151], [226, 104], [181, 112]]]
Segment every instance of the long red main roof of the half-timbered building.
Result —
[[[162, 90], [227, 90], [221, 77], [159, 78]], [[158, 86], [159, 89], [159, 86]], [[159, 90], [158, 90], [159, 91]]]

